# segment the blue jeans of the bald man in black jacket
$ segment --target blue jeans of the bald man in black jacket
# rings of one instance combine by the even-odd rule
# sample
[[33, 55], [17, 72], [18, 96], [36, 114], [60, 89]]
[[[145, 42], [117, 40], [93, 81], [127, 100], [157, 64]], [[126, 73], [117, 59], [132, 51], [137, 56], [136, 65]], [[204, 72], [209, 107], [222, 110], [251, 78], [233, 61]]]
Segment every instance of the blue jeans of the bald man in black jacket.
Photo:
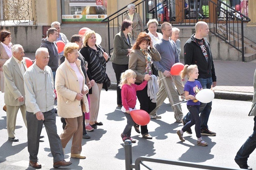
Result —
[[[203, 89], [211, 89], [212, 79], [211, 78], [198, 78]], [[208, 120], [211, 113], [211, 102], [210, 103], [200, 103], [199, 107], [200, 119], [201, 119], [201, 129], [208, 128]], [[184, 122], [187, 123], [191, 120], [190, 113], [187, 113], [183, 118]]]

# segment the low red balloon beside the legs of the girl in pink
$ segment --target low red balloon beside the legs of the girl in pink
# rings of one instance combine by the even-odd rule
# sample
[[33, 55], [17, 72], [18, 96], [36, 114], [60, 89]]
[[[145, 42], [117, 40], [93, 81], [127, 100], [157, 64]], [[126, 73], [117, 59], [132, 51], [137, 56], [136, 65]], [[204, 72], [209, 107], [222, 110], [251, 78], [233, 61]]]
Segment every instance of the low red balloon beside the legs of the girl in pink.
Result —
[[150, 122], [150, 116], [144, 110], [133, 110], [130, 112], [130, 115], [138, 125], [145, 126]]

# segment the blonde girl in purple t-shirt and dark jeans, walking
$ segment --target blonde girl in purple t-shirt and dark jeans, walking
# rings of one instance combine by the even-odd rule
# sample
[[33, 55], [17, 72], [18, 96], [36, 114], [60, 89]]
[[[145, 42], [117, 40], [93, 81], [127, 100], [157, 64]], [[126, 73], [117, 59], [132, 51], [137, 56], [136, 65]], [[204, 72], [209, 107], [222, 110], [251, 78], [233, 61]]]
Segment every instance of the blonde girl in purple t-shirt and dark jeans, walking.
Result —
[[200, 131], [200, 116], [199, 116], [199, 105], [200, 102], [196, 100], [195, 95], [202, 90], [202, 85], [196, 79], [198, 78], [198, 68], [197, 65], [185, 65], [181, 72], [181, 78], [184, 79], [185, 76], [188, 77], [186, 84], [184, 85], [185, 99], [187, 101], [187, 109], [191, 113], [191, 120], [182, 127], [181, 130], [177, 131], [177, 134], [182, 142], [185, 141], [183, 138], [183, 133], [187, 131], [191, 126], [195, 124], [195, 131], [197, 135], [197, 144], [200, 146], [207, 146], [208, 143], [204, 142], [201, 137]]

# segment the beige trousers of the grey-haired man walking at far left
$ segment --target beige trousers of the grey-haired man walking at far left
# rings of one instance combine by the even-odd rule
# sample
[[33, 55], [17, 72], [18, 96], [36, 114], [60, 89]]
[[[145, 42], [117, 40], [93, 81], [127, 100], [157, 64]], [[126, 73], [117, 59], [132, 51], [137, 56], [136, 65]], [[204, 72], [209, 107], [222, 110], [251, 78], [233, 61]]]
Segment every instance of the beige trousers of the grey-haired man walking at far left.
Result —
[[20, 112], [22, 114], [23, 121], [25, 123], [25, 126], [27, 127], [27, 120], [26, 120], [26, 105], [21, 106], [10, 106], [6, 105], [6, 124], [7, 124], [7, 133], [8, 137], [15, 137], [15, 126], [16, 126], [16, 118], [17, 113], [20, 109]]

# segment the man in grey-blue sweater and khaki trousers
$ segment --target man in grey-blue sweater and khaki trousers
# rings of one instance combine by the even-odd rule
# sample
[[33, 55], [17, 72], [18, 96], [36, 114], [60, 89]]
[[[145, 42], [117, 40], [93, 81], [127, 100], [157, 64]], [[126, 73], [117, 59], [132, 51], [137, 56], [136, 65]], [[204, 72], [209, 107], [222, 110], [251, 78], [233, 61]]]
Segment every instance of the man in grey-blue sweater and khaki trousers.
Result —
[[[180, 102], [179, 94], [174, 86], [173, 75], [170, 73], [171, 67], [179, 62], [175, 43], [173, 40], [169, 39], [172, 35], [172, 25], [169, 22], [164, 22], [161, 25], [161, 31], [163, 33], [163, 38], [155, 44], [155, 48], [161, 55], [161, 61], [153, 61], [154, 66], [158, 69], [159, 78], [161, 79], [159, 82], [159, 92], [156, 96], [156, 108], [150, 113], [154, 118], [161, 118], [156, 112], [167, 96], [171, 105]], [[183, 113], [180, 104], [175, 105], [172, 108], [174, 111], [174, 118], [177, 122], [181, 122]]]

